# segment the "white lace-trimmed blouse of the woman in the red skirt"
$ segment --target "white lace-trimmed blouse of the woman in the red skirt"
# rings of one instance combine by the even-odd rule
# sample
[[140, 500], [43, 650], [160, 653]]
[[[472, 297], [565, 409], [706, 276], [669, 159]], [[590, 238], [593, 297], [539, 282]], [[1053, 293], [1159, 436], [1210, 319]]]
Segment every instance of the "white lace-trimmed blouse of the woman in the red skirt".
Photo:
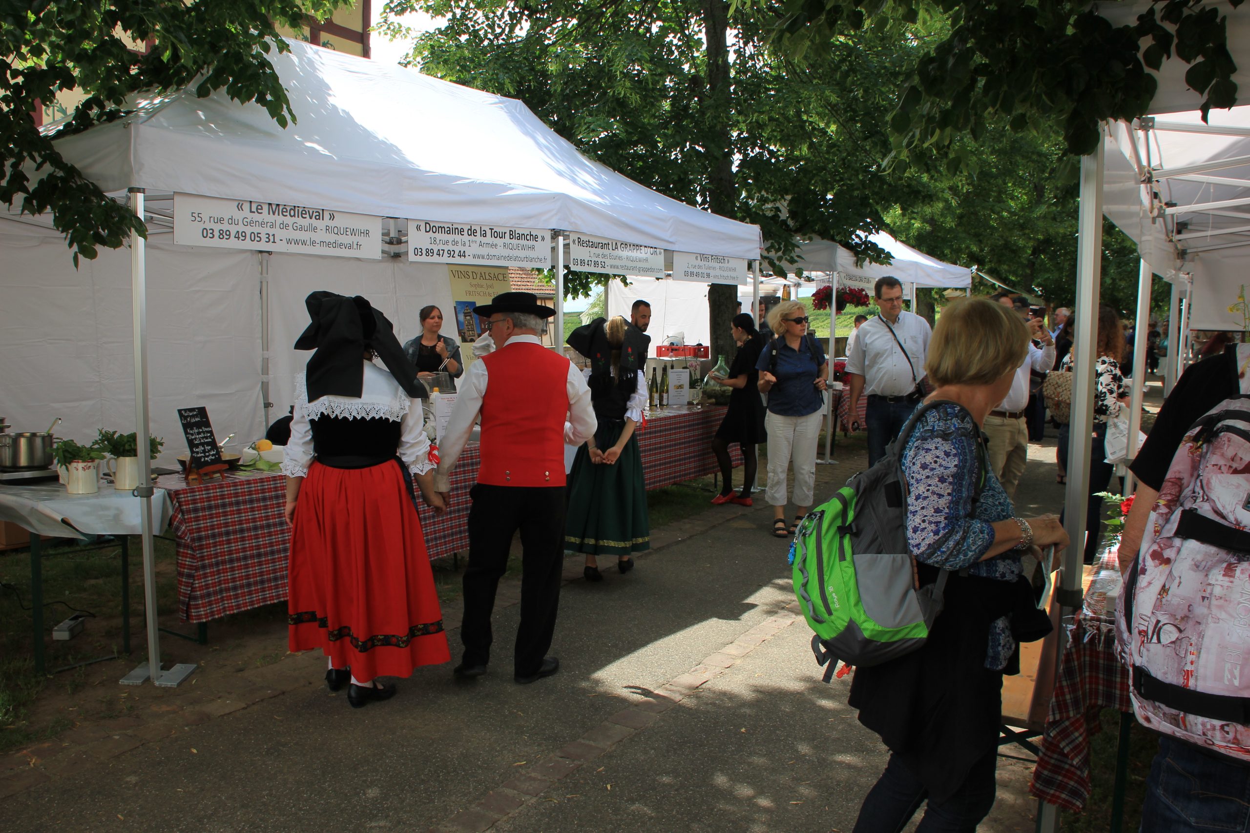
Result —
[[399, 422], [399, 458], [414, 475], [424, 475], [434, 468], [428, 458], [430, 438], [425, 436], [421, 400], [409, 398], [390, 371], [372, 362], [365, 362], [365, 378], [359, 397], [329, 395], [309, 402], [304, 373], [295, 377], [291, 438], [286, 441], [282, 455], [282, 473], [288, 477], [308, 477], [309, 466], [312, 465], [311, 421], [320, 416]]

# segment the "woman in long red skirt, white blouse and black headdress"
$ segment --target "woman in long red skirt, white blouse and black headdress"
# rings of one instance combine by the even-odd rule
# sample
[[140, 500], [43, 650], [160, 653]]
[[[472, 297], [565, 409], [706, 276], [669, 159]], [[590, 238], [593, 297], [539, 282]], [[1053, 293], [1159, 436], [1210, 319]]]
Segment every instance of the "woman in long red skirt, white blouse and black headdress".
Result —
[[330, 691], [346, 684], [360, 708], [395, 694], [376, 677], [450, 659], [414, 481], [435, 512], [445, 506], [426, 458], [425, 388], [390, 321], [359, 296], [314, 292], [306, 305], [312, 323], [295, 348], [316, 352], [295, 380], [282, 462], [290, 649], [324, 651]]

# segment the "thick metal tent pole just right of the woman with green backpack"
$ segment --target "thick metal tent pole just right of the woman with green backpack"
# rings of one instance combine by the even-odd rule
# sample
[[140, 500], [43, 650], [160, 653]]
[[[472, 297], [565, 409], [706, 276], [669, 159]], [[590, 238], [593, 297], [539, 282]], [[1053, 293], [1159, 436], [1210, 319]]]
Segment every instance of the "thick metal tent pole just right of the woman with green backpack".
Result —
[[[1094, 431], [1094, 352], [1098, 330], [1099, 283], [1102, 267], [1102, 172], [1106, 135], [1099, 137], [1094, 154], [1081, 157], [1080, 214], [1076, 239], [1076, 303], [1072, 315], [1072, 405], [1069, 440], [1068, 490], [1064, 527], [1071, 543], [1064, 551], [1064, 567], [1055, 593], [1060, 617], [1081, 604], [1081, 559], [1085, 551], [1085, 516], [1089, 501], [1091, 435]], [[1064, 654], [1064, 629], [1059, 631], [1058, 663]], [[1059, 816], [1039, 807], [1039, 833], [1056, 833]]]

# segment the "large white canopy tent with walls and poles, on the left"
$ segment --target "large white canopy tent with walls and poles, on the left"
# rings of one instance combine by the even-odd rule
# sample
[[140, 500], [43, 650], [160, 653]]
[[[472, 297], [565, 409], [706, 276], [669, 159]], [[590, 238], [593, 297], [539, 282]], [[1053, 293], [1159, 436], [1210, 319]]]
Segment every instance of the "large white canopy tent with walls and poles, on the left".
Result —
[[[405, 219], [554, 230], [558, 276], [566, 231], [728, 257], [759, 252], [756, 226], [684, 205], [581, 156], [518, 101], [299, 41], [271, 61], [299, 117], [286, 130], [264, 109], [239, 105], [224, 91], [199, 99], [192, 85], [56, 141], [89, 180], [116, 199], [126, 196], [148, 224], [150, 257], [149, 242], [131, 235], [129, 254], [102, 251], [74, 270], [48, 217], [0, 217], [0, 286], [15, 298], [0, 307], [0, 345], [9, 355], [55, 358], [38, 368], [8, 362], [0, 370], [0, 388], [24, 397], [10, 402], [5, 416], [15, 425], [41, 425], [34, 421], [70, 408], [66, 431], [74, 436], [85, 438], [106, 420], [125, 430], [120, 391], [132, 386], [149, 663], [126, 682], [150, 677], [176, 686], [190, 672], [160, 666], [150, 403], [159, 403], [156, 426], [166, 438], [179, 433], [170, 407], [209, 401], [239, 428], [259, 428], [271, 371], [284, 377], [276, 398], [301, 363], [285, 345], [302, 330], [308, 291], [368, 295], [401, 332], [422, 303], [448, 303], [436, 269], [399, 260]], [[374, 234], [391, 217], [385, 242], [396, 249], [384, 249], [382, 260], [359, 260], [178, 246], [170, 235], [174, 194], [370, 215], [378, 219]], [[279, 302], [274, 321], [271, 282]], [[129, 368], [119, 361], [124, 298], [131, 313]], [[159, 347], [151, 392], [149, 306]], [[415, 333], [415, 323], [409, 326]], [[270, 343], [278, 345], [272, 353]]]

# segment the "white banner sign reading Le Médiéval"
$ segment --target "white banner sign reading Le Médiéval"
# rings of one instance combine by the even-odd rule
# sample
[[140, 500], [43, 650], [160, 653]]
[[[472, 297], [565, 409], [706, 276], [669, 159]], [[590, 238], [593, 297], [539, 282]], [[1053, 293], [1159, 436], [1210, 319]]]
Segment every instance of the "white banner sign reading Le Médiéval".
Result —
[[381, 217], [302, 205], [174, 195], [174, 242], [182, 246], [382, 256]]

